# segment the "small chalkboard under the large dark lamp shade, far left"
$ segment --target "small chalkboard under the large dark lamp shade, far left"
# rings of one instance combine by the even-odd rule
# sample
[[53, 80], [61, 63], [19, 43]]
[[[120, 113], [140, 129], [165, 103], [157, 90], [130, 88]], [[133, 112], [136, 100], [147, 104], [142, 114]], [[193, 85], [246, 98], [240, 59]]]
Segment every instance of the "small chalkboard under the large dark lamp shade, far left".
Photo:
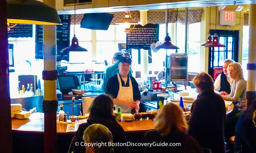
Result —
[[[10, 23], [9, 26], [15, 25]], [[11, 27], [8, 31], [8, 37], [19, 38], [19, 37], [33, 37], [33, 25], [17, 24]]]

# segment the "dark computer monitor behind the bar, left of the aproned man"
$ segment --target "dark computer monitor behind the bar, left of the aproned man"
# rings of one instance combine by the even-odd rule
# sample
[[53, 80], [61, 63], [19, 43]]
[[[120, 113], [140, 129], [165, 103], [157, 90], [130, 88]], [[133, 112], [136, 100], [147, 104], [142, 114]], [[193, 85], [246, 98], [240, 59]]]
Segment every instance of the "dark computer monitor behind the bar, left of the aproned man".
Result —
[[77, 89], [80, 85], [75, 75], [59, 75], [58, 83], [62, 94], [68, 94], [68, 92], [72, 91], [72, 89]]

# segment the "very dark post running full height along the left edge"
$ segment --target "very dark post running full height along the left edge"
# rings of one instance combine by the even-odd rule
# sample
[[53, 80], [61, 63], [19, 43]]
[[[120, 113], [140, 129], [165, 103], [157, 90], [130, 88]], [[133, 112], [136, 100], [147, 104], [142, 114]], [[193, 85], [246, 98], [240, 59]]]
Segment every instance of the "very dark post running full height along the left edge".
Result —
[[0, 152], [12, 153], [12, 118], [6, 0], [0, 1]]

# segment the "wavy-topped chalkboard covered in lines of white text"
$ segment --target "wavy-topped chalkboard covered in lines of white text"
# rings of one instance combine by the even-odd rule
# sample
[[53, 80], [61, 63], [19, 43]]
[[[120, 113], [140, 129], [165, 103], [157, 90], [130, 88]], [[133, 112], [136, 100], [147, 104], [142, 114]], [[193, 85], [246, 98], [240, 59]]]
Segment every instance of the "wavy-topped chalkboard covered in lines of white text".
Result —
[[126, 35], [126, 49], [150, 49], [150, 45], [159, 39], [159, 24], [135, 25]]

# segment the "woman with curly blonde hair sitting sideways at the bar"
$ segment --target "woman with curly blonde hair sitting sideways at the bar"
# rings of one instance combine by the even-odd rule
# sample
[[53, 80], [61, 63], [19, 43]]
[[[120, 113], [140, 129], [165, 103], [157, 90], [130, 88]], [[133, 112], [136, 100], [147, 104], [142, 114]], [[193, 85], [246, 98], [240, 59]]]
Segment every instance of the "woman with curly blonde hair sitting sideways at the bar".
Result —
[[227, 114], [224, 134], [228, 149], [232, 151], [232, 144], [229, 143], [229, 138], [235, 135], [236, 123], [242, 114], [242, 110], [246, 108], [246, 81], [244, 80], [243, 69], [240, 63], [233, 62], [228, 65], [228, 73], [234, 79], [230, 94], [222, 91], [221, 95], [224, 100], [232, 101], [234, 109]]

